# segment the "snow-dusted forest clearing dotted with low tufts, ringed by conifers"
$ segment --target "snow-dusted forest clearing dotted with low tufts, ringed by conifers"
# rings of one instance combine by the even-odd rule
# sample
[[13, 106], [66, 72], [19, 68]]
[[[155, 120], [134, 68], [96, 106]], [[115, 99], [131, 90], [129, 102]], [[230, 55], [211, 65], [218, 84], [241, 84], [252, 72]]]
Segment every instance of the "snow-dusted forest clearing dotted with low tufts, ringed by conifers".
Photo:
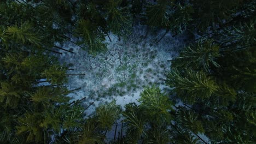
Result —
[[65, 49], [71, 49], [74, 53], [63, 52], [61, 62], [72, 63], [74, 70], [68, 74], [85, 74], [81, 76], [69, 76], [67, 86], [69, 89], [82, 87], [79, 91], [69, 94], [73, 100], [86, 97], [84, 106], [92, 101], [94, 105], [86, 110], [90, 115], [95, 107], [113, 99], [118, 105], [138, 103], [139, 94], [144, 87], [157, 86], [167, 89], [165, 86], [165, 74], [170, 70], [171, 60], [176, 57], [186, 41], [185, 35], [172, 37], [167, 33], [156, 44], [156, 41], [165, 33], [149, 33], [144, 39], [146, 27], [133, 27], [132, 34], [125, 40], [118, 40], [113, 34], [106, 37], [105, 43], [108, 50], [96, 56], [72, 44], [60, 45]]

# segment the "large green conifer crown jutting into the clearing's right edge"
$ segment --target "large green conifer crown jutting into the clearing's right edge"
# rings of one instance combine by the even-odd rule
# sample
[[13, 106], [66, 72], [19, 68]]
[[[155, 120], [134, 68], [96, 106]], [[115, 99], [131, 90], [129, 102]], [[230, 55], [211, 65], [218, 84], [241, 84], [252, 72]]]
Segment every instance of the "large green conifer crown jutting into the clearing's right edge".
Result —
[[193, 104], [196, 100], [210, 98], [218, 89], [217, 83], [208, 77], [203, 71], [188, 70], [181, 73], [172, 70], [167, 76], [167, 85], [173, 87], [186, 103]]

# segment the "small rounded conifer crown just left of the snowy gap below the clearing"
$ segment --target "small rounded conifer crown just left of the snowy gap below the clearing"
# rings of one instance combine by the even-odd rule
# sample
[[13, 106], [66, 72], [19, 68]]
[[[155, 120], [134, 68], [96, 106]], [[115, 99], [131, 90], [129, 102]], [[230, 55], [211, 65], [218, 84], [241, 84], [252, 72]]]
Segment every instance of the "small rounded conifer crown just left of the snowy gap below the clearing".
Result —
[[117, 119], [120, 118], [121, 107], [115, 104], [115, 100], [111, 103], [98, 106], [96, 109], [97, 121], [100, 124], [100, 128], [111, 129]]

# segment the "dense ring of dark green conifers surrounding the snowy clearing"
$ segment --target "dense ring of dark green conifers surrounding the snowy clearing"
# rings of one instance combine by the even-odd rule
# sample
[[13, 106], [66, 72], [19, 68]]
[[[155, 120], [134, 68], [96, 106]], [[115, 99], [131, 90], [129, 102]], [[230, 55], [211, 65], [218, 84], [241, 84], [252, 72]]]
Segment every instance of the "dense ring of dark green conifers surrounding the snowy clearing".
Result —
[[[173, 106], [159, 88], [147, 87], [140, 105], [125, 106], [126, 135], [114, 143], [201, 143], [197, 133], [211, 143], [255, 141], [254, 1], [5, 0], [0, 14], [0, 143], [51, 143], [52, 138], [105, 143], [104, 130], [120, 118], [120, 106], [112, 101], [85, 118], [84, 108], [70, 104], [69, 91], [60, 86], [67, 67], [45, 50], [78, 39], [96, 55], [107, 49], [109, 32], [130, 33], [132, 18], [150, 28], [190, 31], [206, 39], [185, 47], [167, 75], [171, 98], [182, 100], [186, 109]], [[38, 85], [42, 79], [51, 85]], [[136, 87], [133, 81], [127, 88]]]

